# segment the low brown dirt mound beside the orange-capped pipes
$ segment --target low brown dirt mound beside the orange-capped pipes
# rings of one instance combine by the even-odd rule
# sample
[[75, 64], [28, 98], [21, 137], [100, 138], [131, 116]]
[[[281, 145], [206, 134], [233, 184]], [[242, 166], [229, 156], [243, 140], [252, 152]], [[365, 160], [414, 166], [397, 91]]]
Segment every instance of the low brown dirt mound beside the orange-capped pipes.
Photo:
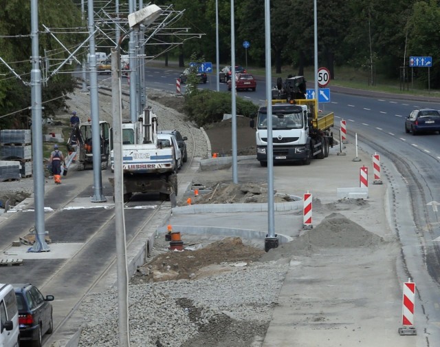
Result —
[[[185, 240], [185, 236], [181, 235]], [[258, 261], [265, 251], [243, 244], [241, 238], [223, 238], [195, 251], [166, 251], [138, 269], [131, 280], [162, 282], [169, 280], [195, 280], [196, 278], [233, 271], [234, 263]]]

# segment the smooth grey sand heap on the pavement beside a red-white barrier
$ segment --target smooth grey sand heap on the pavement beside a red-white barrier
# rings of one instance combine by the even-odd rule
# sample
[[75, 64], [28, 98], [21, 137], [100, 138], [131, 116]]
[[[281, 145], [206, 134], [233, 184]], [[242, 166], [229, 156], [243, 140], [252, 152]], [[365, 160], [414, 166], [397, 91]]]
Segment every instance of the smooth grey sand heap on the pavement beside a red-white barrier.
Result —
[[340, 213], [331, 213], [314, 229], [302, 233], [296, 240], [271, 249], [262, 261], [278, 260], [289, 255], [305, 255], [319, 249], [371, 248], [384, 242], [380, 236], [364, 229]]

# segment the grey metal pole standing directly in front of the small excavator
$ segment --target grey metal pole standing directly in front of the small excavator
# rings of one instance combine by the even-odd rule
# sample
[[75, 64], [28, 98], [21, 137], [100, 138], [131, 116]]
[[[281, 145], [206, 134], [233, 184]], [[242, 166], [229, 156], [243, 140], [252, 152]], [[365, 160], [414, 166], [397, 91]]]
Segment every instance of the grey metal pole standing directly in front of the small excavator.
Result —
[[99, 127], [99, 101], [98, 101], [98, 72], [96, 71], [95, 54], [95, 22], [94, 22], [94, 0], [88, 1], [89, 33], [90, 33], [90, 101], [91, 101], [91, 151], [94, 162], [94, 196], [91, 202], [103, 202], [107, 199], [102, 195], [101, 176], [101, 138]]

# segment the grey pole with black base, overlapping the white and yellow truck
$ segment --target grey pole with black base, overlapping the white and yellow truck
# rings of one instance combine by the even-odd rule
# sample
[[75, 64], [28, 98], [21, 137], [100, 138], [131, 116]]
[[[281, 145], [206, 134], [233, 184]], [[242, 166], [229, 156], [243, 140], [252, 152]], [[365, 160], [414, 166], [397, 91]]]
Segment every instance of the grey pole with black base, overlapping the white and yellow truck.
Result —
[[274, 212], [274, 146], [272, 139], [272, 60], [270, 50], [270, 0], [265, 0], [265, 59], [267, 100], [267, 235], [265, 250], [278, 247]]

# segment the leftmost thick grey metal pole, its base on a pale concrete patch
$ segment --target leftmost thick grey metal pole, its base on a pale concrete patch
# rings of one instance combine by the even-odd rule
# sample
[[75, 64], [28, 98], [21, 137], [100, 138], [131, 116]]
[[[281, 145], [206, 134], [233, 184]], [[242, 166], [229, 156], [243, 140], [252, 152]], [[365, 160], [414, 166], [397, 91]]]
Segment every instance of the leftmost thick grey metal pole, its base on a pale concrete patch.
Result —
[[31, 0], [31, 109], [32, 109], [32, 162], [34, 171], [35, 242], [30, 252], [50, 251], [45, 240], [43, 129], [41, 125], [41, 70], [39, 57], [39, 2]]

